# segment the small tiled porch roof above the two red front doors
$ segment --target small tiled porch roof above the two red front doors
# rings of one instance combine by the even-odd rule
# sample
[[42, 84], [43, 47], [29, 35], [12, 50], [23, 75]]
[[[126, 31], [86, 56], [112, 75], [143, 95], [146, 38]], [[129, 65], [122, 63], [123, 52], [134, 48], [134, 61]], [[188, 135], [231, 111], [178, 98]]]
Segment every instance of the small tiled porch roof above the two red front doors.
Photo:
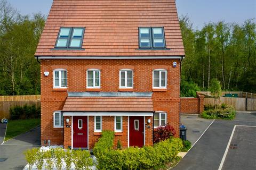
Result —
[[67, 97], [63, 112], [153, 112], [151, 97]]

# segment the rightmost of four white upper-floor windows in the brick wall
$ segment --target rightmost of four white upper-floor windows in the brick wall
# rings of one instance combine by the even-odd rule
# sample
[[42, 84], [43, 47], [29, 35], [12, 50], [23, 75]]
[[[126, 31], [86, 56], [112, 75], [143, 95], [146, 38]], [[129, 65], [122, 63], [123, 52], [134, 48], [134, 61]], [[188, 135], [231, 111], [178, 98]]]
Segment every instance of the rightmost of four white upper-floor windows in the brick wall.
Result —
[[153, 70], [153, 88], [166, 88], [167, 71], [162, 69]]

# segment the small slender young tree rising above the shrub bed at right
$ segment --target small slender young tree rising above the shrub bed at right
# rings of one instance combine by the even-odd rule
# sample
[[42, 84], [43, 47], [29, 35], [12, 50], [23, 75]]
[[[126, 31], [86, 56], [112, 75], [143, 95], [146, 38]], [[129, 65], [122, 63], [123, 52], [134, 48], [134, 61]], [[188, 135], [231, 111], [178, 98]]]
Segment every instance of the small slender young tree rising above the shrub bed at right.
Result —
[[220, 102], [217, 103], [217, 100], [221, 97], [221, 85], [220, 81], [217, 79], [211, 80], [211, 86], [210, 86], [211, 96], [214, 98], [214, 106], [216, 108], [216, 105], [220, 104]]

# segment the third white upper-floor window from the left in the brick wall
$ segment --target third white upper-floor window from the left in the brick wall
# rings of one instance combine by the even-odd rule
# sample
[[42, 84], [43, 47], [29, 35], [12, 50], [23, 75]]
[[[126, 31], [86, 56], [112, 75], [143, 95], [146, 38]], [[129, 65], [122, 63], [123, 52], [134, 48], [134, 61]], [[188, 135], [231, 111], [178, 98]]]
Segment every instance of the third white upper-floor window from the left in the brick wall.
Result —
[[133, 88], [133, 70], [119, 71], [119, 88]]

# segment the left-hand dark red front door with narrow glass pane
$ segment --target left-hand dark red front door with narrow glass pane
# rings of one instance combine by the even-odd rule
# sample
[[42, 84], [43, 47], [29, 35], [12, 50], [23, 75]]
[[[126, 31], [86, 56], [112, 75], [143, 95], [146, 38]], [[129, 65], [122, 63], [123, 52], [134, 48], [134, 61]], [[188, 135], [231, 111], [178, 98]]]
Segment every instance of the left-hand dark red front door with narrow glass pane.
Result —
[[87, 148], [87, 116], [73, 116], [73, 148]]

